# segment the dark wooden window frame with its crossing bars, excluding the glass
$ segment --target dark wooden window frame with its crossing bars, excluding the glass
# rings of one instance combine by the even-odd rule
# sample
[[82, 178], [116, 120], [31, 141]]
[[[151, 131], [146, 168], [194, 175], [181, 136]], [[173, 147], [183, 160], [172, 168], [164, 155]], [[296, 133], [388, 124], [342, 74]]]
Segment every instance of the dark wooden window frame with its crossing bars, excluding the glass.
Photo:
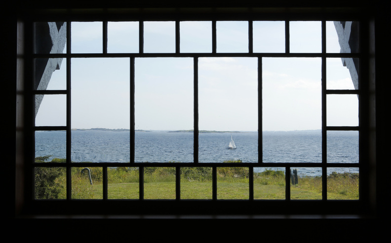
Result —
[[[157, 11], [157, 10], [156, 10]], [[233, 10], [234, 11], [234, 10]], [[119, 11], [121, 12], [121, 11]], [[202, 15], [199, 15], [199, 13], [202, 13]], [[129, 17], [131, 16], [131, 17]], [[202, 17], [200, 17], [202, 16]], [[67, 80], [67, 91], [34, 91], [32, 88], [32, 79], [30, 77], [33, 77], [33, 60], [34, 58], [39, 57], [47, 57], [47, 55], [43, 54], [33, 54], [33, 43], [29, 40], [33, 39], [33, 23], [35, 21], [103, 21], [104, 23], [107, 23], [107, 21], [176, 21], [177, 23], [177, 31], [178, 34], [178, 26], [179, 21], [184, 20], [208, 20], [213, 21], [213, 27], [215, 27], [215, 21], [218, 20], [245, 20], [245, 21], [257, 21], [257, 20], [284, 20], [287, 21], [286, 23], [289, 23], [289, 21], [294, 20], [316, 20], [321, 21], [322, 26], [325, 25], [326, 21], [332, 21], [332, 20], [349, 20], [349, 21], [359, 21], [360, 22], [360, 45], [361, 45], [361, 51], [358, 54], [331, 54], [326, 53], [322, 51], [322, 53], [315, 53], [315, 54], [297, 54], [297, 53], [289, 53], [289, 49], [287, 49], [287, 53], [253, 53], [252, 52], [252, 42], [251, 42], [251, 31], [249, 32], [249, 53], [216, 53], [216, 35], [213, 35], [213, 51], [210, 54], [206, 53], [196, 53], [196, 54], [188, 54], [188, 53], [179, 53], [179, 42], [177, 41], [176, 45], [176, 53], [163, 53], [163, 54], [150, 54], [150, 53], [142, 53], [142, 51], [138, 54], [110, 54], [112, 57], [129, 57], [131, 60], [131, 70], [133, 70], [132, 65], [134, 62], [135, 57], [193, 57], [194, 67], [195, 67], [195, 73], [197, 70], [197, 57], [202, 56], [251, 56], [251, 57], [320, 57], [322, 59], [322, 63], [325, 64], [325, 58], [327, 57], [358, 57], [360, 59], [360, 89], [354, 90], [354, 91], [333, 91], [333, 90], [325, 90], [325, 85], [322, 85], [322, 100], [324, 101], [326, 94], [333, 94], [333, 93], [347, 93], [347, 94], [359, 94], [359, 115], [360, 115], [360, 125], [359, 127], [349, 128], [349, 127], [325, 127], [323, 125], [322, 132], [323, 135], [325, 135], [326, 131], [328, 130], [359, 130], [360, 132], [360, 163], [358, 165], [355, 164], [349, 164], [348, 166], [346, 164], [326, 164], [325, 163], [325, 153], [323, 153], [323, 159], [322, 163], [316, 163], [316, 164], [297, 164], [297, 163], [278, 163], [278, 164], [240, 164], [237, 166], [242, 167], [249, 167], [250, 168], [250, 175], [251, 168], [253, 167], [271, 167], [271, 166], [278, 166], [278, 167], [285, 167], [287, 170], [289, 170], [290, 167], [359, 167], [360, 169], [360, 199], [357, 201], [330, 201], [326, 198], [326, 190], [325, 190], [325, 180], [326, 180], [326, 172], [323, 170], [323, 199], [318, 201], [293, 201], [289, 198], [289, 178], [287, 177], [287, 195], [285, 200], [272, 200], [272, 201], [263, 201], [263, 200], [253, 200], [250, 196], [249, 200], [229, 200], [229, 201], [221, 201], [216, 200], [214, 197], [213, 200], [208, 201], [198, 201], [198, 200], [180, 200], [179, 197], [177, 197], [177, 200], [107, 200], [107, 187], [104, 187], [104, 199], [103, 200], [71, 200], [70, 198], [70, 190], [68, 190], [68, 198], [67, 200], [34, 200], [33, 199], [33, 168], [35, 166], [38, 166], [37, 164], [34, 164], [34, 132], [35, 130], [67, 130], [67, 147], [70, 147], [70, 126], [66, 127], [34, 127], [34, 115], [33, 115], [33, 97], [36, 93], [42, 93], [42, 94], [67, 94], [68, 96], [68, 104], [70, 104], [70, 62], [71, 57], [107, 57], [108, 54], [106, 52], [103, 52], [102, 54], [72, 54], [70, 52], [70, 43], [67, 43], [67, 54], [50, 54], [50, 57], [64, 57], [67, 61], [67, 67], [68, 67], [68, 80]], [[142, 22], [140, 22], [142, 23]], [[23, 165], [22, 172], [22, 178], [24, 178], [23, 183], [23, 190], [21, 191], [22, 194], [17, 193], [18, 195], [22, 196], [23, 199], [17, 200], [20, 202], [23, 207], [22, 211], [24, 213], [28, 214], [38, 214], [38, 215], [45, 215], [45, 214], [113, 214], [113, 215], [172, 215], [172, 214], [197, 214], [197, 215], [215, 215], [215, 214], [236, 214], [236, 215], [275, 215], [275, 214], [284, 214], [284, 215], [292, 215], [292, 214], [316, 214], [316, 215], [324, 215], [324, 214], [338, 214], [338, 215], [346, 215], [346, 214], [367, 214], [371, 213], [372, 211], [372, 200], [373, 200], [373, 193], [374, 189], [371, 185], [371, 167], [373, 166], [371, 163], [374, 163], [374, 158], [371, 157], [371, 150], [373, 149], [373, 143], [370, 141], [373, 139], [372, 133], [370, 131], [370, 127], [372, 126], [371, 117], [373, 117], [372, 112], [372, 104], [370, 103], [370, 90], [372, 82], [374, 82], [374, 77], [371, 76], [370, 70], [373, 69], [371, 66], [369, 59], [369, 45], [370, 45], [370, 31], [371, 31], [371, 25], [370, 20], [367, 19], [365, 16], [360, 15], [359, 10], [354, 10], [349, 13], [335, 13], [331, 11], [330, 13], [324, 13], [321, 11], [304, 11], [300, 12], [298, 14], [296, 13], [290, 13], [290, 12], [274, 12], [274, 11], [263, 11], [260, 10], [259, 12], [246, 12], [243, 14], [241, 11], [234, 11], [226, 13], [225, 11], [214, 11], [213, 13], [210, 13], [205, 10], [200, 10], [200, 12], [197, 13], [186, 13], [184, 12], [175, 12], [171, 10], [167, 11], [152, 11], [149, 13], [141, 13], [137, 10], [129, 10], [129, 12], [123, 14], [110, 14], [106, 11], [102, 11], [100, 13], [91, 12], [88, 11], [83, 12], [83, 14], [70, 14], [70, 13], [63, 13], [63, 14], [53, 14], [51, 11], [47, 10], [44, 11], [43, 14], [39, 15], [33, 15], [33, 16], [25, 16], [23, 20], [23, 26], [24, 26], [24, 32], [21, 32], [21, 35], [23, 35], [24, 40], [24, 66], [25, 66], [25, 78], [18, 79], [19, 86], [23, 86], [21, 90], [23, 90], [23, 100], [24, 102], [20, 104], [18, 107], [18, 110], [23, 110], [23, 116], [25, 119], [23, 121], [20, 121], [22, 123], [22, 126], [24, 127], [24, 131], [22, 133], [21, 138], [23, 138], [23, 143], [19, 146], [20, 149], [24, 148], [24, 159], [22, 160], [21, 164]], [[103, 25], [104, 32], [105, 27], [107, 25]], [[251, 28], [250, 24], [250, 28]], [[70, 35], [70, 25], [67, 25], [68, 31], [67, 35]], [[142, 40], [142, 32], [140, 32], [140, 39]], [[214, 32], [215, 33], [215, 32]], [[287, 33], [289, 34], [289, 33]], [[324, 28], [322, 29], [322, 35], [325, 34]], [[178, 35], [177, 35], [178, 36]], [[287, 35], [289, 36], [289, 35]], [[287, 47], [289, 47], [289, 38], [287, 39]], [[178, 40], [178, 37], [177, 37]], [[104, 46], [106, 44], [106, 38], [104, 38]], [[140, 45], [142, 46], [142, 45]], [[324, 50], [325, 47], [325, 41], [324, 38], [322, 38], [322, 49]], [[140, 47], [141, 48], [141, 47]], [[261, 60], [261, 59], [259, 59]], [[259, 79], [262, 78], [261, 75], [261, 68], [262, 64], [259, 63]], [[325, 70], [325, 65], [322, 65], [322, 70]], [[325, 72], [322, 71], [322, 79], [325, 80]], [[195, 121], [197, 120], [197, 76], [195, 74]], [[134, 83], [134, 79], [131, 80], [131, 82]], [[260, 84], [262, 81], [260, 80]], [[324, 82], [323, 82], [324, 83]], [[364, 88], [362, 88], [364, 87]], [[259, 87], [260, 89], [260, 87]], [[132, 94], [132, 92], [131, 92]], [[261, 94], [259, 92], [259, 94]], [[259, 95], [259, 104], [261, 104], [261, 95]], [[133, 98], [131, 98], [133, 99]], [[325, 102], [323, 102], [322, 107], [322, 114], [325, 114]], [[69, 107], [69, 106], [68, 106]], [[262, 107], [259, 105], [259, 107]], [[261, 111], [261, 110], [259, 110]], [[68, 114], [68, 121], [67, 124], [70, 124], [70, 109], [67, 109]], [[131, 112], [133, 114], [133, 112]], [[259, 120], [262, 119], [261, 117], [262, 112], [259, 112]], [[323, 116], [323, 124], [325, 124], [325, 116]], [[134, 120], [134, 117], [131, 117], [131, 120]], [[17, 121], [18, 122], [18, 121]], [[261, 127], [262, 124], [260, 123], [259, 127]], [[131, 129], [134, 129], [131, 127]], [[195, 135], [197, 134], [197, 123], [195, 122]], [[260, 129], [259, 131], [262, 131]], [[325, 136], [323, 136], [325, 137]], [[132, 139], [131, 139], [132, 140]], [[197, 144], [197, 136], [195, 136], [195, 144]], [[262, 136], [259, 136], [259, 144], [262, 144]], [[325, 148], [325, 142], [322, 143], [323, 145], [323, 151]], [[133, 144], [134, 147], [134, 144]], [[18, 149], [18, 147], [17, 147]], [[70, 151], [67, 152], [68, 155]], [[259, 149], [259, 158], [262, 158], [262, 149]], [[195, 146], [195, 161], [197, 154], [197, 147]], [[67, 156], [70, 158], [70, 156]], [[78, 163], [78, 166], [84, 166], [83, 163]], [[63, 165], [55, 165], [50, 163], [45, 164], [39, 164], [39, 166], [49, 167], [49, 166], [63, 166]], [[68, 174], [70, 174], [70, 168], [72, 166], [75, 166], [75, 163], [70, 163], [70, 161], [67, 162], [66, 168], [68, 171]], [[110, 163], [96, 163], [96, 164], [90, 164], [88, 163], [88, 166], [96, 166], [96, 167], [103, 167], [107, 168], [108, 166], [116, 166], [116, 164]], [[118, 166], [124, 166], [123, 164], [118, 163]], [[130, 163], [126, 166], [136, 166], [142, 168], [143, 164], [139, 163]], [[167, 164], [148, 164], [148, 166], [168, 166]], [[170, 165], [171, 166], [171, 165]], [[180, 167], [183, 166], [202, 166], [202, 167], [213, 167], [214, 171], [216, 167], [224, 166], [223, 164], [205, 164], [205, 163], [191, 163], [189, 164], [180, 164], [175, 165], [177, 167], [177, 170]], [[235, 165], [236, 166], [236, 165]], [[105, 171], [105, 170], [103, 170]], [[179, 174], [179, 173], [177, 173]], [[70, 176], [68, 175], [68, 188], [71, 188], [70, 184]], [[107, 174], [104, 174], [104, 178], [107, 179]], [[179, 175], [177, 177], [178, 181]], [[251, 178], [250, 178], [250, 188], [251, 185]], [[106, 183], [107, 184], [107, 183]], [[177, 183], [177, 186], [179, 186], [179, 183]], [[216, 188], [216, 183], [214, 183], [214, 191]], [[177, 188], [178, 189], [178, 188]], [[179, 190], [177, 190], [178, 192]], [[250, 190], [250, 195], [252, 194]], [[17, 196], [18, 196], [17, 195]], [[215, 194], [214, 194], [215, 195]], [[177, 193], [177, 196], [179, 194]]]

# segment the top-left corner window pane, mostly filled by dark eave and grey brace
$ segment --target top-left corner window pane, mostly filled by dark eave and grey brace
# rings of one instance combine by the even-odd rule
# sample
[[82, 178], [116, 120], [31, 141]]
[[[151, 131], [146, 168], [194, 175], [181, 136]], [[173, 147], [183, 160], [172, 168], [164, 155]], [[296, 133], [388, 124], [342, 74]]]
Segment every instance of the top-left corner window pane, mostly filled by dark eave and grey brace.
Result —
[[66, 53], [67, 22], [36, 22], [35, 53]]

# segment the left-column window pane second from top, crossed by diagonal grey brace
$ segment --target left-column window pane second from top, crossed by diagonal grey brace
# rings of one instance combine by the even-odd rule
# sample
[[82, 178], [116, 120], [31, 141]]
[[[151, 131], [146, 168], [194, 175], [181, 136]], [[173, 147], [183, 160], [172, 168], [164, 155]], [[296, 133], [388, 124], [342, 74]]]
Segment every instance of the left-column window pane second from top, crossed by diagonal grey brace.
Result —
[[65, 90], [67, 88], [67, 62], [64, 58], [35, 59], [35, 89]]

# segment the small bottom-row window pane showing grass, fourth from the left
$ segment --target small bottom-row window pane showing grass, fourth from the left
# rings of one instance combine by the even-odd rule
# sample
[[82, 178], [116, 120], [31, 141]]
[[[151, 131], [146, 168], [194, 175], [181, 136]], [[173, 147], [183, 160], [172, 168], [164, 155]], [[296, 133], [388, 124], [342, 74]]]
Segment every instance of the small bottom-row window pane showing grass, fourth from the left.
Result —
[[175, 199], [175, 167], [144, 168], [144, 199]]

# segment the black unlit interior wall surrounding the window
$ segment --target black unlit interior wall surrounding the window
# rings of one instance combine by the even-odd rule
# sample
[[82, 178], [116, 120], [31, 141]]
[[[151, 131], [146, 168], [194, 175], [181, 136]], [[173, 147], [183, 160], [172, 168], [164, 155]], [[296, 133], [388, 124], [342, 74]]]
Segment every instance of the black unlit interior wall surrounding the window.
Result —
[[[76, 2], [76, 3], [75, 3]], [[19, 10], [21, 9], [30, 9], [29, 11], [38, 11], [42, 8], [49, 7], [77, 7], [77, 8], [91, 8], [94, 6], [99, 7], [177, 7], [178, 3], [174, 1], [143, 1], [143, 2], [135, 2], [133, 1], [116, 1], [112, 0], [106, 3], [99, 3], [98, 1], [74, 1], [69, 0], [66, 2], [52, 2], [52, 3], [41, 3], [40, 1], [15, 1], [12, 2], [9, 8], [2, 8], [1, 18], [2, 27], [6, 35], [2, 35], [2, 50], [5, 52], [5, 60], [6, 62], [2, 62], [1, 70], [5, 73], [3, 75], [3, 81], [1, 84], [1, 99], [2, 99], [2, 107], [5, 109], [5, 112], [2, 112], [1, 120], [2, 120], [2, 138], [3, 141], [6, 141], [6, 145], [2, 145], [1, 151], [3, 152], [3, 173], [6, 174], [5, 179], [3, 180], [2, 189], [5, 190], [6, 196], [1, 197], [6, 200], [6, 208], [4, 219], [10, 220], [12, 223], [8, 224], [8, 226], [28, 231], [29, 229], [35, 230], [36, 232], [48, 232], [48, 230], [53, 230], [58, 228], [65, 227], [69, 225], [69, 220], [26, 220], [26, 219], [15, 219], [14, 208], [15, 208], [15, 173], [16, 173], [16, 146], [15, 144], [20, 141], [21, 137], [17, 137], [18, 129], [16, 124], [16, 117], [19, 114], [16, 114], [16, 104], [17, 102], [17, 88], [16, 88], [16, 73], [17, 73], [17, 17]], [[375, 235], [380, 234], [381, 232], [377, 231], [380, 227], [380, 220], [385, 219], [389, 220], [390, 209], [387, 197], [390, 193], [390, 178], [388, 175], [389, 172], [389, 157], [387, 156], [387, 151], [389, 150], [389, 132], [388, 132], [388, 112], [389, 112], [389, 99], [388, 99], [388, 91], [389, 91], [389, 77], [388, 74], [388, 50], [386, 43], [388, 43], [388, 32], [384, 30], [389, 30], [387, 25], [387, 13], [386, 6], [384, 3], [381, 3], [380, 0], [372, 0], [372, 1], [364, 1], [357, 3], [356, 1], [334, 1], [329, 0], [327, 3], [322, 3], [322, 1], [273, 1], [273, 2], [265, 2], [265, 1], [240, 1], [236, 3], [230, 3], [227, 1], [198, 1], [195, 2], [181, 2], [181, 6], [229, 6], [229, 7], [239, 7], [239, 6], [265, 6], [265, 7], [280, 7], [280, 6], [352, 6], [352, 5], [361, 5], [366, 7], [368, 11], [373, 12], [373, 18], [375, 22], [375, 61], [376, 61], [376, 208], [377, 215], [376, 218], [371, 219], [341, 219], [341, 220], [328, 220], [328, 219], [313, 219], [313, 220], [293, 220], [293, 219], [269, 219], [269, 220], [219, 220], [219, 224], [226, 227], [234, 227], [236, 229], [240, 229], [241, 233], [243, 230], [248, 230], [248, 225], [256, 225], [258, 226], [257, 232], [264, 233], [268, 231], [269, 233], [277, 234], [277, 236], [282, 237], [284, 234], [294, 232], [296, 230], [303, 231], [303, 228], [306, 229], [307, 232], [311, 232], [308, 234], [313, 234], [315, 239], [322, 239], [326, 233], [329, 236], [334, 234], [343, 235], [347, 239], [354, 239], [355, 237], [361, 237], [367, 233], [375, 233]], [[323, 5], [325, 4], [325, 5]], [[36, 9], [36, 10], [34, 10]], [[4, 11], [5, 10], [5, 11]], [[324, 8], [326, 11], [327, 8]], [[27, 12], [29, 12], [27, 11]], [[20, 67], [19, 67], [20, 68]], [[15, 130], [13, 128], [15, 127]], [[380, 131], [380, 132], [379, 132]], [[5, 156], [4, 156], [5, 155]], [[18, 154], [18, 156], [22, 156], [22, 154]], [[7, 186], [5, 186], [7, 185]], [[65, 221], [65, 222], [64, 222]], [[166, 228], [162, 226], [162, 220], [110, 220], [110, 219], [99, 219], [99, 220], [79, 220], [77, 222], [72, 221], [71, 229], [73, 229], [74, 233], [77, 233], [81, 228], [89, 229], [89, 230], [97, 230], [105, 228], [107, 232], [111, 232], [111, 230], [129, 230], [132, 227], [136, 227], [138, 229], [146, 229], [146, 232], [155, 233], [152, 229], [162, 229]], [[386, 222], [387, 222], [386, 221]], [[206, 232], [211, 230], [210, 220], [202, 220], [201, 222], [196, 221], [200, 227], [197, 227], [197, 231], [201, 231], [204, 235]], [[164, 222], [164, 225], [167, 228], [174, 228], [181, 226], [187, 226], [188, 221], [183, 223], [178, 220], [168, 220], [168, 223]], [[215, 225], [216, 223], [211, 223]], [[39, 229], [43, 227], [45, 230]], [[80, 227], [80, 228], [78, 228]], [[349, 229], [349, 230], [348, 230]], [[152, 231], [151, 231], [152, 230]], [[61, 231], [61, 230], [60, 230]], [[130, 230], [133, 231], [133, 230]], [[324, 232], [325, 231], [325, 232]], [[347, 234], [347, 231], [349, 234]], [[99, 230], [98, 230], [99, 232]], [[227, 232], [224, 230], [224, 232]], [[280, 233], [283, 232], [284, 234]], [[64, 232], [63, 232], [64, 233]], [[80, 232], [79, 232], [80, 233]], [[172, 233], [172, 231], [171, 231]], [[323, 233], [323, 234], [322, 234]], [[62, 233], [60, 233], [61, 235]], [[195, 232], [193, 231], [193, 234]], [[281, 235], [282, 234], [282, 235]], [[319, 236], [318, 234], [322, 234]], [[82, 235], [82, 233], [80, 233]], [[89, 234], [90, 235], [90, 234]], [[251, 235], [251, 234], [250, 234]], [[91, 236], [91, 235], [90, 235]], [[297, 236], [297, 235], [296, 235]], [[374, 239], [373, 239], [374, 240]]]

